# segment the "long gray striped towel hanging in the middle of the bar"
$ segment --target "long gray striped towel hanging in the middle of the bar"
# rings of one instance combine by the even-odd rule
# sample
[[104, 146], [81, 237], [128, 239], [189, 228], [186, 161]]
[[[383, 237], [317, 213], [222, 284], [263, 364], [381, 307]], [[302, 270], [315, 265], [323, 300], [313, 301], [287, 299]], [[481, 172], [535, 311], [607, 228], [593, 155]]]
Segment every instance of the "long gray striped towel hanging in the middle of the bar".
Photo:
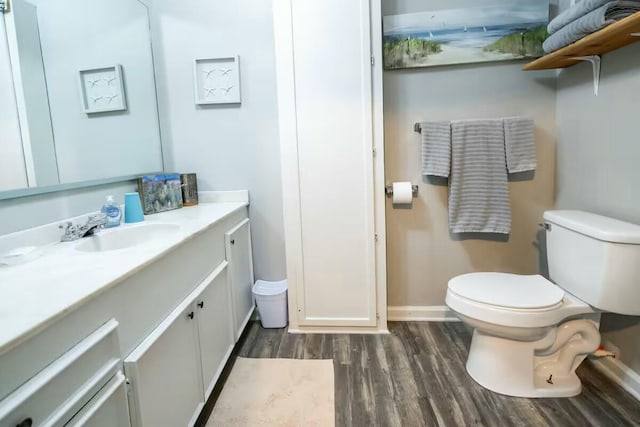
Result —
[[511, 231], [502, 119], [451, 122], [449, 230]]

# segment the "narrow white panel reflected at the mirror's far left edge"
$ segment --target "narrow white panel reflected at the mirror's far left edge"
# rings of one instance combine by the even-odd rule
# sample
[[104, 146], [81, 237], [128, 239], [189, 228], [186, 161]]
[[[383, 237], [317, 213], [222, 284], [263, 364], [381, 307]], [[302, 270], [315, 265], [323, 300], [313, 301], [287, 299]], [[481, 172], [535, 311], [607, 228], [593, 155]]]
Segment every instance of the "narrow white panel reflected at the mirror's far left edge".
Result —
[[[4, 19], [0, 15], [0, 191], [27, 186]], [[1, 221], [0, 221], [1, 222]]]

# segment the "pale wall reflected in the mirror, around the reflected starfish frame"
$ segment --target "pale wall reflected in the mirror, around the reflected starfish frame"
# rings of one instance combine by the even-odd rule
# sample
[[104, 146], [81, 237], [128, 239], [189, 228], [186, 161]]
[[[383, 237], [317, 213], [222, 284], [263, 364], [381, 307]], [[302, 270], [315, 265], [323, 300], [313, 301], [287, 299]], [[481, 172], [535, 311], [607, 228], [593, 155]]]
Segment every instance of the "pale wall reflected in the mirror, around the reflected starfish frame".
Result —
[[[146, 7], [134, 0], [39, 2], [61, 183], [162, 169]], [[127, 110], [82, 111], [79, 71], [121, 64]]]

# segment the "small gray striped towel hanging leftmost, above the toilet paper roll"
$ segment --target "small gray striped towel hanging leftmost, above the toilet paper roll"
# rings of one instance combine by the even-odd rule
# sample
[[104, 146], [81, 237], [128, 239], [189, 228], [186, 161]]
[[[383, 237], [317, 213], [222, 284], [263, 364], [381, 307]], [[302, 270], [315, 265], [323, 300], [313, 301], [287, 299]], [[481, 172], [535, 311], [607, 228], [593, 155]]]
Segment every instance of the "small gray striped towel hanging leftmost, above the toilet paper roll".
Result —
[[422, 175], [449, 177], [451, 169], [451, 122], [420, 123]]

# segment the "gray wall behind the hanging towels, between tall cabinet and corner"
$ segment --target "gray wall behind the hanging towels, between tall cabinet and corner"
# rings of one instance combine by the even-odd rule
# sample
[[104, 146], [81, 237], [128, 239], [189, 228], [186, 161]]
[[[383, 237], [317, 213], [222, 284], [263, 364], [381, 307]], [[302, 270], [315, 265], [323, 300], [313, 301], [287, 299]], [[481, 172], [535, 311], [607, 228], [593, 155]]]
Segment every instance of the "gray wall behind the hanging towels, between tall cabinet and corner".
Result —
[[[389, 0], [383, 14], [476, 6], [474, 1]], [[411, 209], [387, 204], [390, 306], [441, 306], [452, 277], [473, 271], [538, 273], [537, 224], [553, 207], [555, 72], [526, 73], [522, 62], [386, 71], [386, 179], [420, 185]], [[419, 135], [413, 123], [527, 115], [536, 121], [538, 170], [532, 181], [511, 182], [508, 242], [454, 240], [447, 220], [447, 187], [423, 181]]]

